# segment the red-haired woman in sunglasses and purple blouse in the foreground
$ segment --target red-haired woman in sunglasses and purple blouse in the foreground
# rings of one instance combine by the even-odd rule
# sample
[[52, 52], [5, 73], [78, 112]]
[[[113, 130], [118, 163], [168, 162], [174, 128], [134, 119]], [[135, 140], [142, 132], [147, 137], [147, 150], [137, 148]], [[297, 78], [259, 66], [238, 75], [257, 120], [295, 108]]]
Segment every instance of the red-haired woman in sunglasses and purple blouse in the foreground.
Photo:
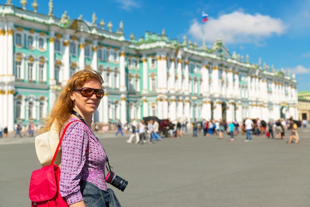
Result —
[[104, 95], [102, 84], [103, 79], [95, 70], [86, 68], [75, 73], [46, 122], [47, 129], [56, 123], [61, 134], [69, 122], [75, 121], [68, 126], [61, 143], [59, 188], [69, 207], [90, 207], [95, 203], [98, 207], [108, 206], [106, 155], [91, 129], [93, 113]]

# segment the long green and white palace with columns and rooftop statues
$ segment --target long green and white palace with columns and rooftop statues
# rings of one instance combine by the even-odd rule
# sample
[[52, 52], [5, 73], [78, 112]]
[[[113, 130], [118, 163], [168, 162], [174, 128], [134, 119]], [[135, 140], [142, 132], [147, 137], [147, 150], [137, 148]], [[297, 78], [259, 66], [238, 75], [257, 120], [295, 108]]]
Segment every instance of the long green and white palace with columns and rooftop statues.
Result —
[[[19, 3], [16, 2], [16, 3]], [[146, 32], [126, 40], [123, 22], [69, 19], [26, 10], [27, 0], [0, 5], [0, 124], [41, 127], [57, 94], [76, 71], [91, 66], [103, 76], [105, 96], [94, 122], [159, 119], [298, 117], [294, 74], [249, 55], [232, 54], [217, 39], [208, 48]], [[98, 26], [99, 25], [99, 26]]]

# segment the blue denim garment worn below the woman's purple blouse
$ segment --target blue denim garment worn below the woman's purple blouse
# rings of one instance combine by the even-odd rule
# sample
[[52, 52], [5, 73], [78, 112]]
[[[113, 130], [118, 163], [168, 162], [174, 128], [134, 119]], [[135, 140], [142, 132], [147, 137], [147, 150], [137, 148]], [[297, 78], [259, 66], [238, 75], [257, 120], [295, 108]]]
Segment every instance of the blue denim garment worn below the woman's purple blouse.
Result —
[[94, 184], [81, 180], [81, 193], [86, 207], [120, 207], [111, 189], [101, 190]]

